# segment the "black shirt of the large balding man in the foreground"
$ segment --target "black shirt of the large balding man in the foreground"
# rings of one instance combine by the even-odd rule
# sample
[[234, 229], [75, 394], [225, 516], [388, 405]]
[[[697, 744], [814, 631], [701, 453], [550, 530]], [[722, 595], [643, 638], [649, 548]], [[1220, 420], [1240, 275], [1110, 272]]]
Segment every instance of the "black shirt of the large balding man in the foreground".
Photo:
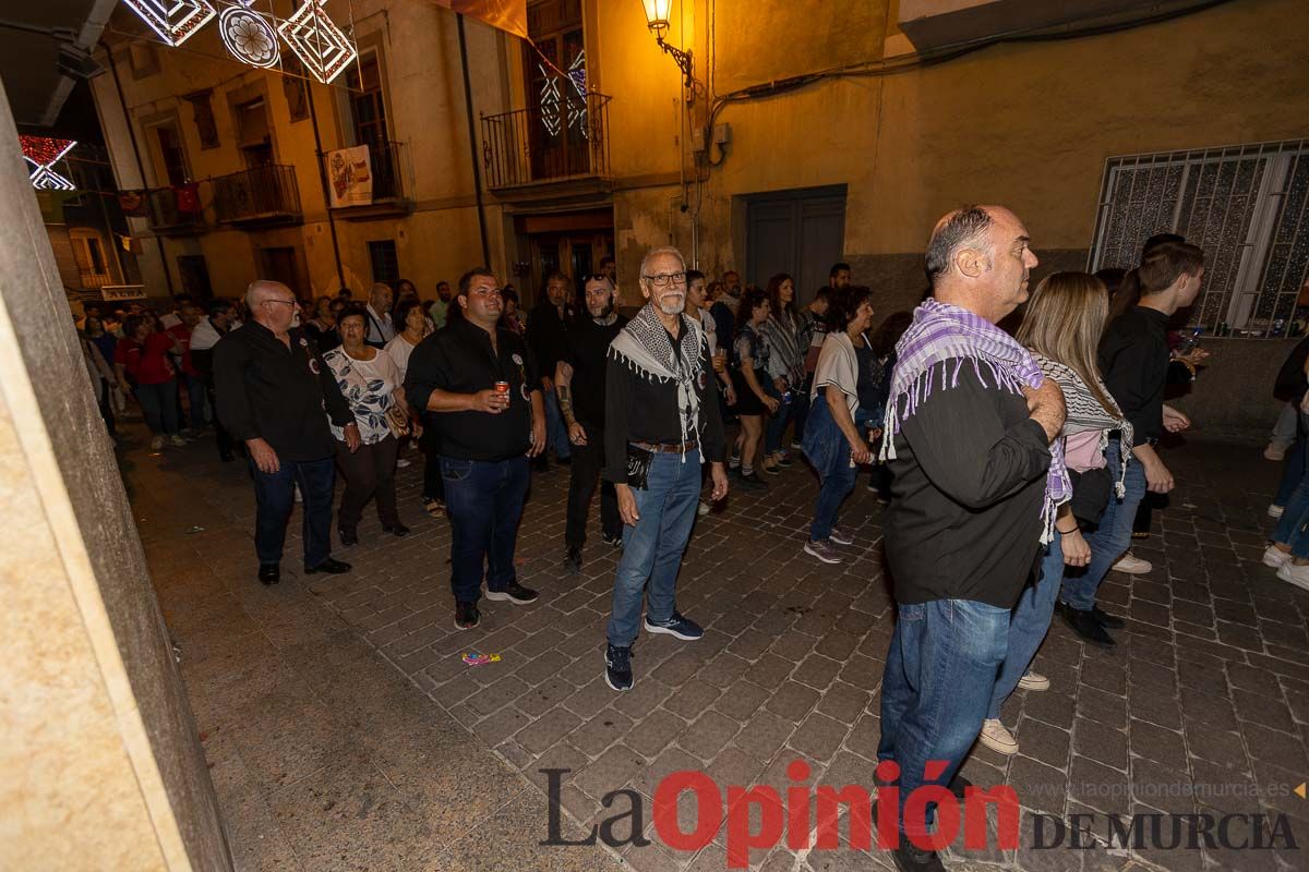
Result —
[[932, 391], [901, 425], [895, 454], [882, 527], [895, 601], [1013, 608], [1041, 545], [1050, 467], [1028, 401], [982, 387], [965, 361], [958, 384]]

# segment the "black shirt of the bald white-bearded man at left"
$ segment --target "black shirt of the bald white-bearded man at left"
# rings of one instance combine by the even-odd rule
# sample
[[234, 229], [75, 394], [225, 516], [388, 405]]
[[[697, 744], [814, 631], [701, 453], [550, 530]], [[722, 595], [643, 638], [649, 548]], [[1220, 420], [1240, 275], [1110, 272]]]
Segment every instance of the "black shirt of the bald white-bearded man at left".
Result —
[[[213, 346], [213, 396], [233, 439], [262, 438], [283, 460], [321, 460], [336, 451], [327, 418], [355, 422], [336, 377], [302, 329], [291, 348], [259, 322], [228, 332]], [[326, 412], [325, 412], [326, 411]]]

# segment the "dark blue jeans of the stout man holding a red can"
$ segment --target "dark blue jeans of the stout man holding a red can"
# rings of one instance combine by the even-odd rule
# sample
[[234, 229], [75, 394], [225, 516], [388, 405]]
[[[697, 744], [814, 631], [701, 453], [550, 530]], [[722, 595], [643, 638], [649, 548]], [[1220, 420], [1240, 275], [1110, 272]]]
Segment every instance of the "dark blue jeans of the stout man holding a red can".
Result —
[[445, 510], [450, 515], [450, 590], [459, 603], [480, 599], [483, 566], [488, 591], [503, 591], [517, 580], [513, 549], [530, 478], [525, 456], [441, 458]]

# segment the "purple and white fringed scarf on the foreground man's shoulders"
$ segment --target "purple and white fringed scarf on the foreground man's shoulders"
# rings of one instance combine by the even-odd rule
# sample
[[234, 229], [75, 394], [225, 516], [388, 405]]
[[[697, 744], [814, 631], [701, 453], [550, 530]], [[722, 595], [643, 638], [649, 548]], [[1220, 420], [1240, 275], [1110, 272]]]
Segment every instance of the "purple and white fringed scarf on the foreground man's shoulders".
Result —
[[[931, 297], [914, 310], [914, 323], [895, 344], [895, 373], [882, 426], [882, 460], [895, 456], [895, 434], [901, 422], [932, 395], [937, 382], [942, 391], [956, 387], [966, 362], [973, 365], [982, 387], [1022, 394], [1024, 387], [1038, 388], [1046, 380], [1031, 353], [1012, 336], [980, 315]], [[982, 375], [983, 369], [991, 374], [990, 386]], [[940, 379], [936, 378], [937, 370]], [[1041, 509], [1042, 544], [1054, 537], [1055, 512], [1071, 497], [1063, 439], [1055, 439], [1050, 446], [1046, 499]]]

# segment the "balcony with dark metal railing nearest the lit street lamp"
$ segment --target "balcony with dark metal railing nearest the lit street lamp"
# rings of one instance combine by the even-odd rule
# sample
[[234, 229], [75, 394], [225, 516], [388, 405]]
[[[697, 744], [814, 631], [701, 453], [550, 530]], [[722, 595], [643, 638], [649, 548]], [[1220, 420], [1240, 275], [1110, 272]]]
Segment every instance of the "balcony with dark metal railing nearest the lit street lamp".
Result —
[[487, 187], [503, 199], [586, 193], [609, 187], [609, 101], [556, 103], [482, 116]]

